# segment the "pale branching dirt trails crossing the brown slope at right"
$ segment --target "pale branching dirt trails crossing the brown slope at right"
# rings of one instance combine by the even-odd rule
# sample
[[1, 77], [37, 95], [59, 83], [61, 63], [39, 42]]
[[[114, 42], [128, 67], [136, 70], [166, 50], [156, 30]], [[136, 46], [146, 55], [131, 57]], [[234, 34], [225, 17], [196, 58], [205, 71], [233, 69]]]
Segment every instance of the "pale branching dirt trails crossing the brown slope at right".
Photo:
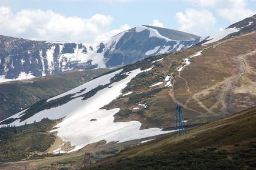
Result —
[[[254, 32], [250, 33], [250, 34], [254, 34]], [[241, 35], [241, 36], [247, 36], [249, 34], [245, 34], [245, 35]], [[215, 48], [218, 45], [223, 44], [224, 42], [229, 41], [229, 39], [225, 39], [223, 41], [217, 42], [211, 46], [207, 46], [206, 48], [203, 48], [202, 51], [204, 51], [205, 49], [208, 48]], [[180, 104], [183, 106], [183, 108], [186, 108], [188, 110], [191, 111], [195, 111], [194, 109], [189, 108], [187, 105], [189, 104], [189, 102], [191, 102], [192, 100], [195, 100], [199, 106], [201, 106], [201, 108], [205, 109], [205, 111], [207, 111], [208, 113], [211, 114], [217, 114], [216, 112], [213, 111], [213, 109], [217, 108], [219, 104], [222, 105], [221, 107], [221, 112], [224, 114], [229, 114], [229, 112], [235, 111], [234, 107], [231, 104], [232, 98], [234, 96], [234, 84], [241, 78], [241, 76], [243, 76], [246, 72], [251, 73], [251, 74], [255, 74], [255, 71], [250, 68], [250, 66], [248, 65], [248, 62], [246, 61], [245, 57], [249, 56], [249, 55], [254, 55], [256, 54], [256, 50], [248, 52], [246, 54], [243, 55], [239, 55], [236, 57], [237, 59], [237, 68], [239, 69], [239, 71], [237, 72], [237, 74], [229, 76], [228, 78], [225, 78], [223, 81], [216, 83], [215, 85], [210, 86], [209, 88], [206, 88], [202, 91], [199, 91], [196, 94], [192, 94], [189, 85], [188, 85], [188, 81], [186, 81], [185, 78], [183, 78], [180, 74], [180, 72], [178, 73], [177, 78], [182, 79], [183, 81], [185, 81], [185, 86], [187, 91], [190, 94], [189, 99], [185, 102], [185, 104], [182, 104], [181, 102], [178, 101], [178, 99], [176, 99], [174, 91], [170, 91], [170, 96], [173, 99], [173, 101], [175, 101], [176, 103]], [[192, 56], [192, 55], [191, 55]], [[191, 57], [189, 56], [189, 57]], [[175, 85], [175, 81], [173, 81], [173, 85]], [[221, 90], [219, 91], [218, 95], [216, 96], [216, 99], [218, 100], [217, 102], [215, 102], [214, 105], [212, 105], [210, 108], [206, 107], [202, 101], [200, 100], [200, 96], [201, 95], [207, 95], [210, 94], [210, 92], [212, 90], [216, 90], [217, 88], [221, 87]], [[198, 112], [198, 111], [195, 111]], [[198, 112], [200, 113], [200, 112]]]

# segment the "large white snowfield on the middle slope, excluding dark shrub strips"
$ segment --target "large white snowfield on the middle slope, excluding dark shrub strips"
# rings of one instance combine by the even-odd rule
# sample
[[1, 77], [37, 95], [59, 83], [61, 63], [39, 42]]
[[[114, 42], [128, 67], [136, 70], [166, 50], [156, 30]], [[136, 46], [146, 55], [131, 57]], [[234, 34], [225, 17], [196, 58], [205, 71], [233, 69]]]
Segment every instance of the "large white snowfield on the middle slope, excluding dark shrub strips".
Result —
[[[145, 71], [149, 71], [150, 69]], [[79, 97], [81, 93], [76, 94], [83, 88], [86, 88], [86, 91], [89, 91], [89, 88], [91, 85], [93, 85], [93, 82], [95, 83], [95, 87], [99, 84], [107, 84], [114, 75], [119, 74], [121, 71], [122, 69], [101, 76], [100, 78], [94, 79], [91, 82], [87, 82], [86, 84], [68, 91], [63, 95], [51, 98], [52, 100], [67, 94], [74, 94], [74, 96], [78, 96], [77, 98], [72, 99], [64, 105], [60, 105], [51, 109], [45, 109], [31, 116], [25, 121], [19, 122], [20, 120], [18, 119], [10, 125], [20, 126], [24, 125], [25, 122], [27, 122], [27, 124], [32, 124], [34, 121], [41, 121], [43, 118], [63, 118], [63, 121], [55, 126], [57, 129], [54, 129], [51, 132], [57, 132], [57, 135], [60, 136], [64, 142], [70, 142], [72, 146], [75, 146], [75, 148], [69, 152], [77, 151], [78, 149], [81, 149], [88, 144], [102, 140], [105, 140], [106, 142], [124, 142], [172, 132], [161, 131], [162, 129], [159, 128], [140, 130], [141, 123], [138, 121], [114, 122], [114, 115], [119, 112], [119, 108], [110, 110], [100, 109], [104, 105], [107, 105], [116, 99], [118, 96], [122, 95], [122, 89], [126, 87], [131, 79], [140, 72], [144, 72], [140, 69], [126, 73], [128, 75], [126, 78], [109, 85], [111, 88], [107, 87], [101, 89], [94, 96], [86, 100], [82, 100], [83, 97]], [[19, 112], [12, 117], [19, 118], [23, 112], [24, 111]], [[96, 119], [96, 121], [91, 121], [91, 119]], [[61, 151], [61, 149], [57, 149], [57, 152], [63, 151]]]

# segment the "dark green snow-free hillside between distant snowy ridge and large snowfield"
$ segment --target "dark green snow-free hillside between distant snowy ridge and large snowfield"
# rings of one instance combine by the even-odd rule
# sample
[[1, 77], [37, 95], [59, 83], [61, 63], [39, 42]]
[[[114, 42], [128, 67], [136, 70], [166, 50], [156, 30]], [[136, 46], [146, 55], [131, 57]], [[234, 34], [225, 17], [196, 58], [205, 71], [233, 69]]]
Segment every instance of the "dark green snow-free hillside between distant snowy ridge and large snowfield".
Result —
[[26, 81], [2, 83], [0, 84], [0, 121], [17, 113], [21, 108], [27, 108], [41, 99], [61, 94], [110, 70], [101, 68], [70, 71]]

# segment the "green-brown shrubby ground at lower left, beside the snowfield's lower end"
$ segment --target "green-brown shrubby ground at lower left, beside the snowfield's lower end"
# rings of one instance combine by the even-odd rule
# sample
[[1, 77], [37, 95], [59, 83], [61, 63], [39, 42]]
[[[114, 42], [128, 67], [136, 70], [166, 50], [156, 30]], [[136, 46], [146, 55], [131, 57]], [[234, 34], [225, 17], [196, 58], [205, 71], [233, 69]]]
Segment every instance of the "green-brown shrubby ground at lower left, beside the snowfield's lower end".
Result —
[[37, 154], [54, 143], [55, 136], [48, 131], [56, 124], [50, 119], [24, 126], [0, 128], [0, 162], [36, 159], [51, 154]]

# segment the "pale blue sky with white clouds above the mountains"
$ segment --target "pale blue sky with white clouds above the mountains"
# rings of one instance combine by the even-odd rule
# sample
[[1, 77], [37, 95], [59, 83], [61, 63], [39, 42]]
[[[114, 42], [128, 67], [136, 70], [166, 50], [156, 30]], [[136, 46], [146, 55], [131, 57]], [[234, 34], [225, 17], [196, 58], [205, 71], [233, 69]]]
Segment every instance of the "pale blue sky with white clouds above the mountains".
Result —
[[95, 42], [137, 25], [207, 36], [256, 14], [256, 0], [0, 0], [0, 34]]

